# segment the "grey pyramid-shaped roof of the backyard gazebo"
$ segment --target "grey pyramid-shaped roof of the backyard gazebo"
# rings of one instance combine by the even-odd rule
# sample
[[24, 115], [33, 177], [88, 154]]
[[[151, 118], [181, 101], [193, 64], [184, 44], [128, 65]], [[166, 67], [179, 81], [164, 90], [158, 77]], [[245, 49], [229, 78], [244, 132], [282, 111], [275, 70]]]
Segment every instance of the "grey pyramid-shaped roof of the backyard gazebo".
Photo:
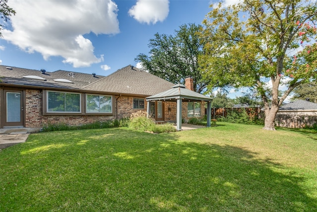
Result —
[[165, 101], [176, 101], [176, 99], [182, 99], [182, 101], [189, 102], [192, 100], [198, 101], [211, 101], [212, 98], [207, 97], [203, 94], [187, 89], [184, 85], [178, 83], [171, 89], [164, 92], [149, 96], [146, 98], [148, 101], [152, 100], [165, 100]]

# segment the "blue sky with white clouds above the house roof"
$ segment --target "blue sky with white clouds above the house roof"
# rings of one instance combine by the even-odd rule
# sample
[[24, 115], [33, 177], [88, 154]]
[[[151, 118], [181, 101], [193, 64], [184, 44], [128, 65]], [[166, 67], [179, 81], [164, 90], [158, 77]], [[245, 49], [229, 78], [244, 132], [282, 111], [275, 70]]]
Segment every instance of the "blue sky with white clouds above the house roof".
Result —
[[182, 24], [201, 24], [214, 2], [8, 0], [16, 15], [2, 30], [0, 63], [108, 75], [137, 66], [134, 59], [149, 53], [155, 33], [173, 34]]

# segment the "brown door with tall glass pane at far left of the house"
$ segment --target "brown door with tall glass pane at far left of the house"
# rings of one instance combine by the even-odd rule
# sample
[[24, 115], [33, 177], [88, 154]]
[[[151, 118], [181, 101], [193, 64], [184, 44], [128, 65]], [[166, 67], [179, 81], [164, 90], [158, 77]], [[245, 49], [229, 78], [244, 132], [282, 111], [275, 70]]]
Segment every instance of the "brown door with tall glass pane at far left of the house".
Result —
[[3, 127], [23, 126], [23, 90], [4, 90], [2, 120]]

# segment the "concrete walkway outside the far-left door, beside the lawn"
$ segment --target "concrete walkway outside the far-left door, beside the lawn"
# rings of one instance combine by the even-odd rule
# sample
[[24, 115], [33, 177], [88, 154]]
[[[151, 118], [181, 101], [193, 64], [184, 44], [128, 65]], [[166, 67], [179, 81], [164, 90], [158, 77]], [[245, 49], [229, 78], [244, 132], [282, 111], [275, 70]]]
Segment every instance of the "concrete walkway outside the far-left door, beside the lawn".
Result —
[[37, 128], [10, 127], [0, 129], [0, 149], [25, 142], [32, 132], [38, 132]]

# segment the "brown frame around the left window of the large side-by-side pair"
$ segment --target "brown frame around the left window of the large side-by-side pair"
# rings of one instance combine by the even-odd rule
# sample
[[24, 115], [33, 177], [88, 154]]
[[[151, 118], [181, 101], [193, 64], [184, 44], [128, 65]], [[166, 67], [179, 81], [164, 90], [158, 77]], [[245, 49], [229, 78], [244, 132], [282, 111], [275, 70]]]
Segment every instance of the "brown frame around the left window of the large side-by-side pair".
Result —
[[[54, 92], [54, 93], [64, 93], [65, 95], [68, 94], [77, 94], [79, 95], [79, 111], [49, 111], [49, 92]], [[45, 98], [43, 98], [43, 108], [45, 108], [45, 112], [44, 115], [65, 115], [65, 114], [69, 114], [69, 115], [76, 115], [76, 114], [82, 114], [82, 94], [81, 93], [77, 93], [77, 92], [71, 92], [71, 91], [57, 91], [57, 90], [45, 90]], [[44, 101], [45, 99], [45, 101]], [[66, 100], [65, 100], [66, 102]]]

